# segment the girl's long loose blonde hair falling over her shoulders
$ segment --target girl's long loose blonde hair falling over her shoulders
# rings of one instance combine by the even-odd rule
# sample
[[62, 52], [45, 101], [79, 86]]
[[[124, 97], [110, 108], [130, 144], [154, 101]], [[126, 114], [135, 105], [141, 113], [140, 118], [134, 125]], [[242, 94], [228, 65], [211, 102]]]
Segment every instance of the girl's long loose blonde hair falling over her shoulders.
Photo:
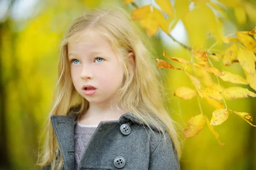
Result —
[[[118, 11], [93, 9], [74, 20], [68, 28], [60, 44], [60, 57], [58, 62], [58, 82], [56, 99], [48, 116], [46, 137], [43, 152], [39, 156], [38, 165], [44, 167], [51, 163], [52, 169], [63, 166], [63, 158], [55, 160], [55, 150], [59, 148], [52, 125], [51, 115], [67, 115], [74, 105], [81, 105], [78, 114], [88, 108], [88, 101], [80, 96], [74, 86], [70, 75], [70, 63], [67, 58], [67, 45], [71, 37], [84, 30], [93, 30], [104, 35], [112, 44], [113, 49], [120, 56], [124, 70], [124, 84], [118, 91], [116, 106], [123, 111], [129, 111], [139, 118], [147, 127], [156, 127], [164, 134], [166, 125], [169, 135], [175, 145], [178, 158], [181, 155], [180, 138], [175, 122], [170, 118], [164, 106], [163, 83], [157, 70], [155, 60], [143, 43], [143, 36], [130, 14], [122, 9]], [[134, 52], [135, 66], [132, 67], [131, 57], [128, 53]], [[162, 121], [158, 121], [156, 118]], [[151, 129], [152, 130], [152, 129]]]

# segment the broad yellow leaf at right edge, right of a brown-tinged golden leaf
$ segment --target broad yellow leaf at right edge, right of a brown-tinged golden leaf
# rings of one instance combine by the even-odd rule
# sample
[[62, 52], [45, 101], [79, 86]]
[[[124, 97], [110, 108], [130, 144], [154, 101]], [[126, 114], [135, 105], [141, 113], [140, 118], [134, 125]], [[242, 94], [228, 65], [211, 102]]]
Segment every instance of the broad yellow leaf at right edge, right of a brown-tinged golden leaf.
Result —
[[239, 48], [237, 56], [241, 67], [247, 71], [249, 74], [253, 75], [255, 73], [255, 55], [252, 51], [247, 49]]

